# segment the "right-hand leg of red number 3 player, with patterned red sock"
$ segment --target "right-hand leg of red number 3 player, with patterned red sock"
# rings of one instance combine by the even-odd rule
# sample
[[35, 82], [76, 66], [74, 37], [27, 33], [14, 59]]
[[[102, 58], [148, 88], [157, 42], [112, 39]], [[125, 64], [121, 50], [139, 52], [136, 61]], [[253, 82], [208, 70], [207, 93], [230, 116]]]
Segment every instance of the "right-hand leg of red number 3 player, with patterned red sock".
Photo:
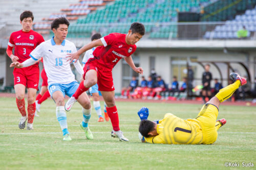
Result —
[[35, 88], [28, 88], [28, 124], [27, 130], [33, 130], [33, 120], [35, 116], [35, 95], [37, 89]]

